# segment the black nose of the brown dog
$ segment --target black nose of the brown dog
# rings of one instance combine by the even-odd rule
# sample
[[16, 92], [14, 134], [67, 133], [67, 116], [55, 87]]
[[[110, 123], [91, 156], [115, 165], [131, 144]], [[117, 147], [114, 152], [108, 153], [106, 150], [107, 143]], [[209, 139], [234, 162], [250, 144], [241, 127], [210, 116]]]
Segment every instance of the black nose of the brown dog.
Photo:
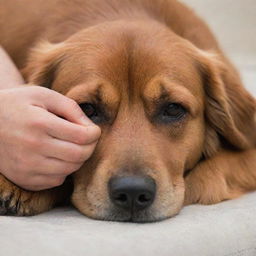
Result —
[[109, 181], [109, 195], [115, 206], [129, 211], [149, 207], [155, 198], [156, 184], [150, 177], [115, 177]]

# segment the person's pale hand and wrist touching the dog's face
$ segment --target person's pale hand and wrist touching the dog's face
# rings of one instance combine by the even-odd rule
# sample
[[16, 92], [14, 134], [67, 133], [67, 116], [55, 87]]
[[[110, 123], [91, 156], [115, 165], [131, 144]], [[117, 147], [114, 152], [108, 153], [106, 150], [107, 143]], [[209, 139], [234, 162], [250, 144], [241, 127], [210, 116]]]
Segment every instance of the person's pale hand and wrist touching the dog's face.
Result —
[[100, 128], [75, 101], [24, 85], [1, 47], [0, 77], [0, 173], [32, 191], [61, 185], [91, 156]]

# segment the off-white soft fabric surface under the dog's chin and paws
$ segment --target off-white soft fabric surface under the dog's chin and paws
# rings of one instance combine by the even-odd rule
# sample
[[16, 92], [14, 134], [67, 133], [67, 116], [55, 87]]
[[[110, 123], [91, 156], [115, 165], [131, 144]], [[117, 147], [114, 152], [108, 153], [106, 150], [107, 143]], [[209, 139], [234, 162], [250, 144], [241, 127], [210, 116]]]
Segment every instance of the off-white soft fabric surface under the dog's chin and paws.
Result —
[[185, 207], [172, 219], [134, 224], [95, 221], [70, 208], [2, 217], [0, 255], [255, 256], [256, 192]]

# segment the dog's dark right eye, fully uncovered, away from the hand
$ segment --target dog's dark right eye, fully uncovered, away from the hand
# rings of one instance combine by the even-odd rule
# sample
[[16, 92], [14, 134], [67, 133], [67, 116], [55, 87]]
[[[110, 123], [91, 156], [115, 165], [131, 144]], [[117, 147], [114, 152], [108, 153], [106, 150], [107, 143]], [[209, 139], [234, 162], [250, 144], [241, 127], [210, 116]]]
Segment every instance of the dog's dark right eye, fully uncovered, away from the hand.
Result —
[[160, 118], [163, 122], [176, 122], [187, 113], [186, 109], [178, 103], [169, 103], [162, 107]]

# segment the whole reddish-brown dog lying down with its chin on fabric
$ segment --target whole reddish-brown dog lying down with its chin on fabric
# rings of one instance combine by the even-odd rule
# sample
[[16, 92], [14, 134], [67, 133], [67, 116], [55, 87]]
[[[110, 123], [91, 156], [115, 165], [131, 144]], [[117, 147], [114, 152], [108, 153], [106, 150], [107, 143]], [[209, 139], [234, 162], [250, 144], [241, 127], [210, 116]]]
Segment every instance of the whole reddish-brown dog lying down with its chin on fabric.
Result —
[[[147, 222], [184, 204], [256, 189], [256, 103], [207, 26], [175, 0], [0, 2], [0, 44], [28, 83], [81, 104], [102, 129], [73, 175], [73, 204], [104, 220]], [[0, 176], [2, 214], [67, 197]]]

